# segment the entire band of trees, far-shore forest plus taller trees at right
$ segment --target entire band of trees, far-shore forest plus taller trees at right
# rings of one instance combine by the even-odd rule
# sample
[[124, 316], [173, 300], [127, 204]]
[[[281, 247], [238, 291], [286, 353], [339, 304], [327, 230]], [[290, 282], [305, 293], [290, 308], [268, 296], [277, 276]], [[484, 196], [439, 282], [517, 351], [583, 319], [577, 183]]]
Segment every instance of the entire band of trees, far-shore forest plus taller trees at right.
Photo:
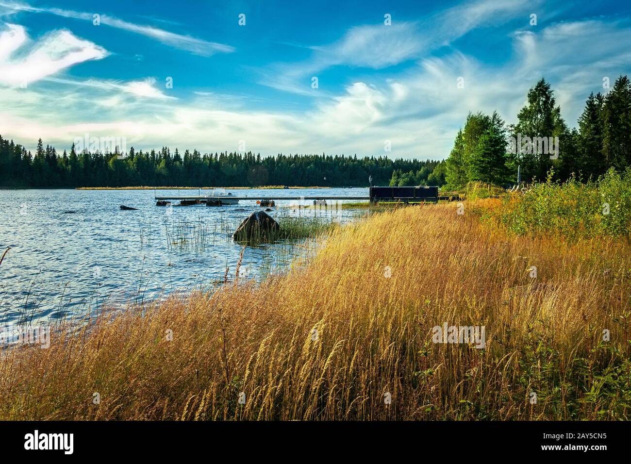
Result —
[[[511, 139], [512, 138], [512, 139]], [[558, 141], [558, 149], [539, 153], [522, 150], [515, 140]], [[516, 150], [510, 150], [510, 143]], [[528, 148], [528, 147], [526, 147]], [[30, 151], [0, 135], [0, 186], [4, 187], [130, 187], [130, 186], [413, 186], [436, 185], [457, 190], [469, 182], [511, 186], [543, 180], [550, 169], [560, 180], [574, 175], [581, 181], [596, 179], [608, 169], [631, 166], [631, 82], [620, 76], [605, 95], [591, 93], [569, 129], [561, 116], [550, 84], [543, 78], [528, 92], [528, 102], [516, 124], [497, 114], [469, 113], [464, 127], [444, 161], [392, 160], [386, 156], [278, 155], [204, 153], [178, 148], [116, 153], [78, 152], [76, 146], [61, 155], [54, 146], [38, 140]]]

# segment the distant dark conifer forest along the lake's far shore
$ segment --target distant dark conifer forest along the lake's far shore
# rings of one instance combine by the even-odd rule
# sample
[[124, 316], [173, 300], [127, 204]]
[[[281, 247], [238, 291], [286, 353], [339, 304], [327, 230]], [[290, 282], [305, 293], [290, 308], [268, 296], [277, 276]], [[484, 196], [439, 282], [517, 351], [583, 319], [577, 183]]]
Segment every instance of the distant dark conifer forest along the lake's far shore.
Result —
[[395, 170], [420, 172], [437, 164], [357, 155], [278, 155], [247, 153], [181, 153], [178, 148], [124, 156], [98, 150], [57, 152], [40, 139], [33, 155], [0, 135], [0, 186], [4, 187], [131, 187], [131, 186], [368, 186], [387, 185]]

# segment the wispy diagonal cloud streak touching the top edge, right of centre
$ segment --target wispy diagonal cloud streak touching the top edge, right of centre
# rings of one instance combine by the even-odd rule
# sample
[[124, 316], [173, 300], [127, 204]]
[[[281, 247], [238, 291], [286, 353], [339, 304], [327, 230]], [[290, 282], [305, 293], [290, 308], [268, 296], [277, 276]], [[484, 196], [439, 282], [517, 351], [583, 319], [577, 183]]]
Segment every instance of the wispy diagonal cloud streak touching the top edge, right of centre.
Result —
[[421, 59], [477, 28], [498, 27], [517, 15], [528, 18], [526, 13], [541, 1], [524, 4], [520, 0], [470, 0], [419, 21], [401, 21], [395, 15], [391, 25], [352, 27], [332, 44], [308, 47], [314, 51], [308, 60], [259, 70], [259, 83], [285, 92], [330, 97], [325, 81], [319, 83], [317, 91], [310, 88], [311, 76], [338, 65], [384, 69]]

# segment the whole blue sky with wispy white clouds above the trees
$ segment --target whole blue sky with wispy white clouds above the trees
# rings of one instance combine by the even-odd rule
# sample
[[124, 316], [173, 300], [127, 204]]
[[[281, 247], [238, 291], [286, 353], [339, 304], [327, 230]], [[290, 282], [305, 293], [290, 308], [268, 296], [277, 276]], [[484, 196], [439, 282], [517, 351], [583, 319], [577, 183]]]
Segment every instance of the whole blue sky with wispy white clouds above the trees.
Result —
[[442, 159], [469, 111], [515, 122], [543, 76], [574, 127], [630, 68], [622, 2], [0, 0], [0, 134], [28, 148]]

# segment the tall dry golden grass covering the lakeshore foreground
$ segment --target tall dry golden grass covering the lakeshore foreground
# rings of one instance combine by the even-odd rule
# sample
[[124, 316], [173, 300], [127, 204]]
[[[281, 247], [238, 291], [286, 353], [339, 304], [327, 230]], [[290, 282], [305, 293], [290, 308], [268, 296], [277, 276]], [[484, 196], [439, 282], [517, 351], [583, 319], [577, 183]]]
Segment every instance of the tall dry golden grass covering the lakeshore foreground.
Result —
[[[386, 211], [262, 285], [8, 350], [0, 419], [628, 419], [629, 251], [509, 237], [453, 204]], [[487, 347], [432, 343], [443, 323], [485, 326]]]

